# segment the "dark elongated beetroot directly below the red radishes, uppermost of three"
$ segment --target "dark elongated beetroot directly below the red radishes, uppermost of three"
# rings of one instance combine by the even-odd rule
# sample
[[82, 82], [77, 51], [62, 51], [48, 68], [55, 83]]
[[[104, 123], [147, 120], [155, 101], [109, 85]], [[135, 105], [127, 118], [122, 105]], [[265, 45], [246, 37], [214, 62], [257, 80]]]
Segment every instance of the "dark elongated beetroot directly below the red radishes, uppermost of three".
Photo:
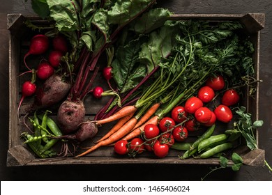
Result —
[[50, 107], [63, 100], [69, 90], [70, 84], [62, 81], [61, 76], [52, 75], [43, 86], [37, 88], [35, 104], [40, 108]]

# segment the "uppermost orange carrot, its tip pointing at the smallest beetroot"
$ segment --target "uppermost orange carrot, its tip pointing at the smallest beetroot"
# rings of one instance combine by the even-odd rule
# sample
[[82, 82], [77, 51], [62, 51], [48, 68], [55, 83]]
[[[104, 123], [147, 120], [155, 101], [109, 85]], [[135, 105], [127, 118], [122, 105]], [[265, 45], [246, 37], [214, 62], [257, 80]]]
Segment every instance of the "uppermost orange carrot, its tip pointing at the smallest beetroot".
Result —
[[134, 113], [137, 110], [137, 107], [135, 106], [127, 106], [123, 107], [121, 110], [117, 111], [112, 116], [109, 116], [108, 118], [104, 118], [101, 120], [96, 120], [97, 125], [103, 125], [105, 123], [110, 123], [114, 120], [118, 120], [120, 118], [123, 118], [124, 116], [128, 116], [131, 113]]

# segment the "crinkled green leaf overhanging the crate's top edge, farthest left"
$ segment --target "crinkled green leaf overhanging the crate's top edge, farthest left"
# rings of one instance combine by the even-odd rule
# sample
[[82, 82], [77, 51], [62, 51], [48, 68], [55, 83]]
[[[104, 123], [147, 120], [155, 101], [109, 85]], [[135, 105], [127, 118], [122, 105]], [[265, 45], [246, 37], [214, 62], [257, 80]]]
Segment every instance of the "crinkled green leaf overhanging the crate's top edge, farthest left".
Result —
[[56, 21], [59, 31], [80, 30], [77, 12], [80, 10], [75, 0], [47, 0], [50, 16]]

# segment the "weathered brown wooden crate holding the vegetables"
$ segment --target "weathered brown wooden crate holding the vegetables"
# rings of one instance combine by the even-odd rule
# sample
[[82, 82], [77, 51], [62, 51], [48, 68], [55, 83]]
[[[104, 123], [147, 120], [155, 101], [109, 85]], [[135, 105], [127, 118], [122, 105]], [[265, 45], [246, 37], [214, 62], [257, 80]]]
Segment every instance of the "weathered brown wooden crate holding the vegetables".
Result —
[[[202, 14], [188, 14], [188, 15], [174, 15], [172, 20], [188, 20], [188, 19], [201, 19], [211, 21], [221, 20], [239, 20], [246, 26], [246, 32], [250, 35], [252, 42], [255, 46], [255, 72], [256, 79], [259, 79], [259, 39], [260, 30], [264, 28], [264, 14], [252, 13], [246, 15], [202, 15]], [[27, 45], [31, 37], [31, 30], [27, 29], [24, 24], [25, 20], [32, 20], [35, 24], [48, 25], [45, 20], [40, 20], [38, 17], [27, 17], [20, 14], [8, 15], [8, 29], [10, 31], [9, 36], [9, 146], [7, 154], [7, 166], [30, 166], [30, 165], [53, 165], [53, 164], [218, 164], [218, 159], [179, 159], [178, 155], [182, 155], [183, 152], [171, 150], [169, 155], [163, 159], [158, 159], [154, 155], [142, 153], [135, 158], [121, 157], [114, 153], [112, 147], [104, 147], [96, 150], [95, 152], [87, 155], [86, 157], [63, 157], [63, 158], [47, 158], [40, 159], [36, 155], [33, 155], [31, 150], [23, 144], [23, 140], [20, 138], [20, 134], [26, 130], [23, 124], [23, 116], [17, 117], [17, 105], [20, 100], [20, 84], [24, 80], [24, 77], [18, 77], [24, 67], [22, 62], [22, 56], [27, 52]], [[29, 38], [26, 40], [26, 38]], [[98, 81], [102, 81], [98, 75]], [[103, 85], [103, 84], [102, 84]], [[246, 97], [243, 104], [248, 108], [248, 111], [252, 113], [253, 120], [258, 119], [259, 112], [259, 84], [257, 84], [257, 91], [255, 98]], [[103, 100], [94, 100], [91, 97], [86, 98], [85, 104], [92, 105], [92, 107], [86, 107], [86, 117], [92, 117], [96, 112], [103, 107], [107, 102], [107, 98]], [[28, 100], [22, 105], [28, 106]], [[54, 108], [53, 108], [54, 110]], [[53, 116], [54, 117], [54, 111]], [[99, 130], [97, 137], [103, 135], [103, 130], [107, 130], [109, 125]], [[203, 132], [198, 132], [199, 134]], [[258, 133], [256, 132], [257, 137]], [[192, 136], [196, 136], [193, 134]], [[90, 141], [85, 142], [86, 146]], [[84, 145], [83, 144], [83, 145]], [[262, 166], [264, 162], [264, 151], [259, 150], [257, 154], [248, 149], [241, 148], [239, 151], [245, 159], [248, 159], [248, 163], [252, 166]]]

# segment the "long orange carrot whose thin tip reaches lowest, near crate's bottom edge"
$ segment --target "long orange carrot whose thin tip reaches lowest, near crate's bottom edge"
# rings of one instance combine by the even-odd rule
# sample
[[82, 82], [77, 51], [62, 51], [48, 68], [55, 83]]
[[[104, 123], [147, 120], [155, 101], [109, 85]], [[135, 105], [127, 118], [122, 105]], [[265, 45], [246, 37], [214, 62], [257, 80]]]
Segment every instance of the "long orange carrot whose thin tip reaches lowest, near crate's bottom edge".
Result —
[[134, 118], [134, 117], [130, 118], [130, 120], [128, 120], [128, 122], [125, 125], [123, 125], [117, 132], [112, 134], [108, 139], [100, 141], [95, 146], [89, 148], [89, 150], [86, 150], [84, 153], [81, 153], [80, 155], [77, 155], [76, 157], [82, 157], [86, 154], [93, 152], [93, 150], [100, 148], [100, 146], [107, 146], [111, 143], [114, 143], [115, 141], [118, 141], [122, 137], [126, 136], [126, 134], [128, 134], [130, 132], [130, 130], [133, 129], [133, 127], [136, 125], [136, 123], [137, 123], [136, 118]]

